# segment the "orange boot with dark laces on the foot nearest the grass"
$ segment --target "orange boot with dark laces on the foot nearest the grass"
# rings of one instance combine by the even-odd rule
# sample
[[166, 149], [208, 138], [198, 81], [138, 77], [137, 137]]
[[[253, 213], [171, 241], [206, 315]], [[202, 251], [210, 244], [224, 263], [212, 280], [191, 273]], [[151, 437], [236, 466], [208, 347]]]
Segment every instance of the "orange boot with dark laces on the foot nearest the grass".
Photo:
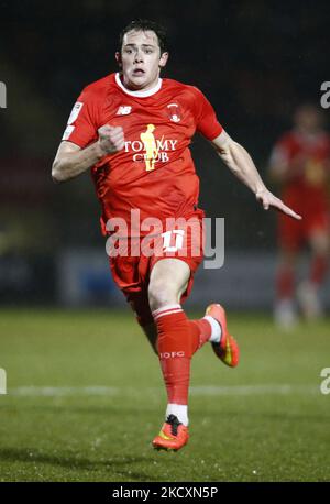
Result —
[[175, 415], [168, 415], [158, 436], [153, 440], [156, 450], [177, 451], [187, 445], [188, 427], [182, 424]]

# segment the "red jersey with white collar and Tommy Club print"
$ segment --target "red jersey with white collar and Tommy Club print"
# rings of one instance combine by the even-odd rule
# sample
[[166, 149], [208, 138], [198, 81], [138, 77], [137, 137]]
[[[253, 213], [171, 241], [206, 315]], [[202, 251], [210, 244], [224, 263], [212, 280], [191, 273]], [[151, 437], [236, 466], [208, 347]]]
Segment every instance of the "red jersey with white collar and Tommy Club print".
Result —
[[130, 226], [131, 209], [140, 209], [141, 220], [188, 218], [199, 196], [191, 138], [199, 131], [213, 140], [222, 131], [202, 92], [172, 79], [158, 79], [151, 90], [130, 91], [119, 74], [111, 74], [82, 90], [63, 140], [84, 149], [98, 140], [105, 124], [122, 127], [125, 145], [91, 168], [103, 231], [110, 218], [123, 218]]

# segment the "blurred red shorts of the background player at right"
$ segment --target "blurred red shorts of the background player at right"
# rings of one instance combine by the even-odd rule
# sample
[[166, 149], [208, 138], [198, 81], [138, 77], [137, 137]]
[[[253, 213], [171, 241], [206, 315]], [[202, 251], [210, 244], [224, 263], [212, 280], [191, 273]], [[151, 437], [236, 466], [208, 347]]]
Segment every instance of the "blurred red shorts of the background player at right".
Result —
[[316, 231], [329, 232], [329, 216], [326, 211], [301, 213], [302, 220], [279, 216], [279, 245], [292, 252], [298, 251]]

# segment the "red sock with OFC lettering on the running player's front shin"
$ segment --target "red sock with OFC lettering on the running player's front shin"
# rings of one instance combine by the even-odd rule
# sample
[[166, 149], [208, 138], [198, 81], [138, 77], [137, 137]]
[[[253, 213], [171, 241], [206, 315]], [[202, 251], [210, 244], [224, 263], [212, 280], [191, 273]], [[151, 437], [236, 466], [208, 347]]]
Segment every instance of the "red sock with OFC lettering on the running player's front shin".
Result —
[[190, 361], [196, 348], [190, 322], [180, 305], [153, 311], [158, 332], [158, 355], [168, 403], [188, 404]]

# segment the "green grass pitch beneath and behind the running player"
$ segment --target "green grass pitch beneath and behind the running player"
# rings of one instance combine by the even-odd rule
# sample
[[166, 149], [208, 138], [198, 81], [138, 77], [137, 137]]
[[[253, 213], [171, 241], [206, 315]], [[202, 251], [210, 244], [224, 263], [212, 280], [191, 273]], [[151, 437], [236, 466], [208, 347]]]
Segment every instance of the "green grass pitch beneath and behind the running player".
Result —
[[[195, 314], [200, 316], [200, 314]], [[156, 452], [157, 358], [128, 311], [1, 310], [0, 481], [329, 481], [330, 320], [229, 314], [241, 364], [193, 360], [190, 440]]]

